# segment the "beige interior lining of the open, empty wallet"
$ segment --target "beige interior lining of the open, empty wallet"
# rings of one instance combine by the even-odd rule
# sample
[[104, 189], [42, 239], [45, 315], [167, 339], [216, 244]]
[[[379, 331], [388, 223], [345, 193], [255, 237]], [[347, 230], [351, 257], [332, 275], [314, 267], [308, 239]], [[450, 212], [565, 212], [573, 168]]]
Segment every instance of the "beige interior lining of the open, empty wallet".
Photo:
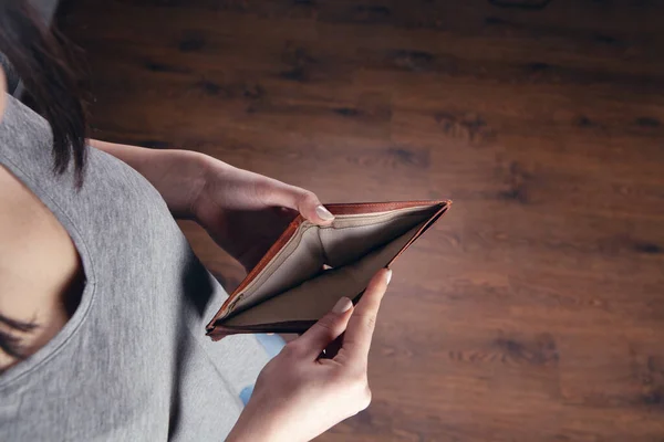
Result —
[[[326, 228], [303, 222], [282, 255], [276, 256], [257, 277], [256, 285], [248, 287], [222, 323], [230, 326], [267, 319], [312, 319], [319, 309], [331, 308], [340, 297], [356, 296], [438, 209], [426, 206], [380, 214], [340, 215]], [[323, 271], [323, 264], [332, 269]], [[282, 306], [288, 306], [291, 314]]]

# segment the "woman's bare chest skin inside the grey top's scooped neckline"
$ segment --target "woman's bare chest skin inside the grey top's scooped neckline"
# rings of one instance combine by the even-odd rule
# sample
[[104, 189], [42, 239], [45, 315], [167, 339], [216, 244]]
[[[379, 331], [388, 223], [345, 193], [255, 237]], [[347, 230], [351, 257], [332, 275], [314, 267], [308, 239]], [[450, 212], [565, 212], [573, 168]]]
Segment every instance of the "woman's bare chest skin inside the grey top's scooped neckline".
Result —
[[[0, 243], [0, 314], [35, 325], [18, 336], [30, 355], [58, 334], [75, 309], [81, 264], [53, 213], [2, 166]], [[0, 355], [0, 365], [7, 362], [10, 358]]]

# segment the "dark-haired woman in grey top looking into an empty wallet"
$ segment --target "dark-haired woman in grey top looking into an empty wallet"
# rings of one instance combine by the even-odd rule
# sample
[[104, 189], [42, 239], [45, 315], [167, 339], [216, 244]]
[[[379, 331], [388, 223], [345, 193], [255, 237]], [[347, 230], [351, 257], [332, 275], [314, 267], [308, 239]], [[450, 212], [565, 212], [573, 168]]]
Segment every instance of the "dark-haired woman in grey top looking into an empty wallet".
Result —
[[[0, 70], [0, 440], [305, 441], [367, 407], [390, 271], [289, 343], [242, 408], [268, 358], [253, 337], [205, 337], [226, 294], [174, 217], [247, 267], [295, 211], [332, 217], [307, 190], [201, 154], [87, 143], [60, 41], [23, 1], [0, 2], [13, 64]], [[7, 93], [14, 69], [43, 118]]]

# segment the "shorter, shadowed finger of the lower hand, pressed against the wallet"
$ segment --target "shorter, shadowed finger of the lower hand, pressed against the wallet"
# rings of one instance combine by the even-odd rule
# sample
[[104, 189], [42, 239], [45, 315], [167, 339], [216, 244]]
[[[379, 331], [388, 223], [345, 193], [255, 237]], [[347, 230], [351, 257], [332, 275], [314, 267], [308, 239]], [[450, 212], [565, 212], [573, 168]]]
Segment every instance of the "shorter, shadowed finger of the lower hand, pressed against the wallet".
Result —
[[325, 347], [345, 330], [352, 312], [353, 302], [347, 297], [342, 297], [330, 313], [295, 339], [295, 345], [307, 356], [317, 359]]

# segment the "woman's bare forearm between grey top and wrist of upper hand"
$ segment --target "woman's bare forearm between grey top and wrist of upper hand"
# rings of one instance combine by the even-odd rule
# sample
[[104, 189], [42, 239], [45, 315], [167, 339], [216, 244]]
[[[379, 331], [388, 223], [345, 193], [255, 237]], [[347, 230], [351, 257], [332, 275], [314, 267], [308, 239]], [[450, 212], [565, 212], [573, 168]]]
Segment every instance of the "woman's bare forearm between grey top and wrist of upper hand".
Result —
[[162, 194], [175, 218], [191, 219], [191, 207], [205, 185], [207, 156], [190, 150], [156, 150], [91, 139], [143, 175]]

